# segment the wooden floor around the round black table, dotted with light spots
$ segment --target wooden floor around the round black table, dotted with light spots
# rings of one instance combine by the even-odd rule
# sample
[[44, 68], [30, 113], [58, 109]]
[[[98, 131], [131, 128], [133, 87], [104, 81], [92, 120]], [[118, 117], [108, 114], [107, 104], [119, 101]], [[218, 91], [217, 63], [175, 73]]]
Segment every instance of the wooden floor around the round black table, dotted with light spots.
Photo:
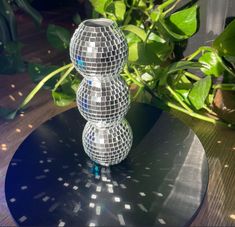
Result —
[[[46, 15], [49, 22], [61, 24], [66, 20], [59, 13]], [[36, 29], [24, 16], [20, 15], [19, 18], [20, 37], [22, 42], [27, 44], [23, 51], [25, 59], [56, 64], [66, 58], [64, 54], [50, 47], [44, 31]], [[33, 87], [27, 72], [1, 75], [0, 106], [16, 107]], [[50, 93], [41, 90], [27, 110], [15, 120], [0, 120], [0, 226], [15, 226], [4, 194], [7, 167], [15, 150], [40, 124], [71, 107], [56, 107]], [[183, 114], [173, 114], [198, 135], [205, 147], [210, 168], [207, 196], [191, 226], [235, 226], [235, 131], [210, 125]]]

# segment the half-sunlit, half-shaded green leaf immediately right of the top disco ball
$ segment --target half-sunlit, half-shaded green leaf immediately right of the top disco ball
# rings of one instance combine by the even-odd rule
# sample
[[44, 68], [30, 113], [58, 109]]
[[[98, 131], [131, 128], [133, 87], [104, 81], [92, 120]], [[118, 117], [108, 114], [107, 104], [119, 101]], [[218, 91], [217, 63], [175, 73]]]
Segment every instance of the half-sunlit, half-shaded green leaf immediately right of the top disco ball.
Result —
[[128, 60], [130, 63], [140, 65], [158, 64], [160, 60], [151, 49], [151, 46], [144, 42], [133, 43], [129, 46]]

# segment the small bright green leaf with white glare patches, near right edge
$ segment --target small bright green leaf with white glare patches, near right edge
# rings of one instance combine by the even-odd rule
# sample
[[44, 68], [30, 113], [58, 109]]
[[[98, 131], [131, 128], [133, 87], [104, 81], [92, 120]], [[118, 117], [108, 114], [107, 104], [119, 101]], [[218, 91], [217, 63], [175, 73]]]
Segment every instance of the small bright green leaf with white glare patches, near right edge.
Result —
[[215, 77], [219, 77], [224, 72], [224, 67], [221, 65], [216, 54], [213, 52], [204, 53], [198, 61], [204, 65], [201, 68], [201, 71], [206, 75], [214, 75]]

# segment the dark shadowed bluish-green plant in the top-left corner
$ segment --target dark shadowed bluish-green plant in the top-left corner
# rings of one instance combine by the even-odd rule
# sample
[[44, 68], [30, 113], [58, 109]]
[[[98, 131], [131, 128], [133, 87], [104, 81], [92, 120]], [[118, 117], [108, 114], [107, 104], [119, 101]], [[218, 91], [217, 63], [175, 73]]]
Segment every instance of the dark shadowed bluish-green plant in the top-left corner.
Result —
[[41, 14], [31, 7], [28, 0], [0, 1], [0, 73], [4, 74], [22, 72], [25, 69], [14, 13], [18, 8], [29, 14], [36, 24], [42, 22]]

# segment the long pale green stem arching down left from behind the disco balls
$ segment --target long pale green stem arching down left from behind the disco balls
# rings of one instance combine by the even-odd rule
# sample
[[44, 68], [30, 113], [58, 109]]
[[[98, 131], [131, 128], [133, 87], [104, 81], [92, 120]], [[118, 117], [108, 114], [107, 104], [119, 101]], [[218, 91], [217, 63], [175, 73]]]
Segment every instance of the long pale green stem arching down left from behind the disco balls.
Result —
[[51, 79], [53, 76], [55, 76], [56, 74], [60, 73], [61, 71], [69, 68], [72, 66], [72, 63], [62, 66], [59, 69], [56, 69], [55, 71], [49, 73], [47, 76], [45, 76], [37, 85], [36, 87], [27, 95], [27, 97], [25, 98], [25, 100], [20, 104], [20, 106], [17, 108], [17, 110], [22, 109], [24, 106], [26, 106], [30, 100], [34, 97], [34, 95], [42, 88], [42, 86], [46, 83], [46, 81], [48, 81], [49, 79]]

